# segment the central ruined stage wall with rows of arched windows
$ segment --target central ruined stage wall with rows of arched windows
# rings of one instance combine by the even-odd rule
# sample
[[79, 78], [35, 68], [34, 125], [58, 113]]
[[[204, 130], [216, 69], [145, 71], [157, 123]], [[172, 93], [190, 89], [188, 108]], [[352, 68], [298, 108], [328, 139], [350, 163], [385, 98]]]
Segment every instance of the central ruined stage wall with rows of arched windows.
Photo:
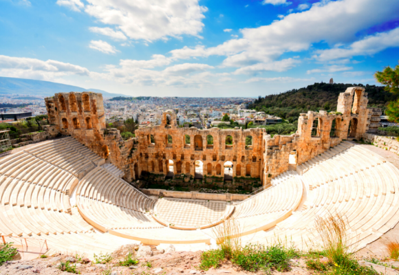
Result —
[[[167, 124], [166, 115], [170, 117], [170, 124]], [[206, 176], [224, 177], [224, 164], [230, 161], [233, 162], [233, 177], [261, 177], [264, 129], [187, 129], [178, 127], [175, 121], [174, 111], [166, 111], [161, 125], [136, 131], [140, 173], [166, 175], [171, 159], [173, 173], [177, 175], [194, 176], [195, 161], [199, 160]], [[168, 135], [172, 143], [168, 142]], [[190, 137], [190, 144], [186, 144], [185, 135]], [[213, 144], [207, 144], [208, 135], [213, 137]], [[231, 145], [226, 144], [228, 136], [233, 140]], [[252, 146], [246, 146], [248, 136], [252, 137]]]

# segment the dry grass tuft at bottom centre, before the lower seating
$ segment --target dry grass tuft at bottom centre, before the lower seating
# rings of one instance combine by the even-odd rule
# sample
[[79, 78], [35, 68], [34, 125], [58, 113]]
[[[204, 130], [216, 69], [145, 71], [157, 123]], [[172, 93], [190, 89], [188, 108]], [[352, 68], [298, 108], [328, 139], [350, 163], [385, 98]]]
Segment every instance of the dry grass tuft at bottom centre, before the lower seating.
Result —
[[224, 220], [213, 227], [216, 241], [228, 259], [241, 250], [241, 228], [235, 219]]

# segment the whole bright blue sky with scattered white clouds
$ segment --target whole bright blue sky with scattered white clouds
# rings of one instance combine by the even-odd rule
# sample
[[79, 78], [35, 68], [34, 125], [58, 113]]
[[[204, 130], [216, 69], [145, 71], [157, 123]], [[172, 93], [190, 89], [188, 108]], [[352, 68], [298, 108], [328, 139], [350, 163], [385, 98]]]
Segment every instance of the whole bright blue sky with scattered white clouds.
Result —
[[0, 76], [129, 96], [376, 84], [399, 0], [0, 0]]

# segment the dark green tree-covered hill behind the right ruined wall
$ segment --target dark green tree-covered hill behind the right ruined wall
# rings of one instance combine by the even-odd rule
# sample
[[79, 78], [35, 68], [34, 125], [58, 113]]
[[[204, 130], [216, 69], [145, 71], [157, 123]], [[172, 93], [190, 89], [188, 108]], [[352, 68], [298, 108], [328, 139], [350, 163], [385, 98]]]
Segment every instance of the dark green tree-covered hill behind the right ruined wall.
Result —
[[314, 83], [301, 89], [292, 89], [281, 94], [274, 94], [262, 98], [259, 96], [255, 102], [250, 104], [250, 109], [264, 111], [270, 115], [277, 115], [280, 118], [297, 120], [299, 113], [308, 111], [336, 111], [338, 96], [347, 87], [365, 87], [368, 94], [368, 107], [385, 109], [387, 102], [395, 100], [398, 96], [384, 90], [382, 86], [362, 85], [362, 84], [328, 84]]

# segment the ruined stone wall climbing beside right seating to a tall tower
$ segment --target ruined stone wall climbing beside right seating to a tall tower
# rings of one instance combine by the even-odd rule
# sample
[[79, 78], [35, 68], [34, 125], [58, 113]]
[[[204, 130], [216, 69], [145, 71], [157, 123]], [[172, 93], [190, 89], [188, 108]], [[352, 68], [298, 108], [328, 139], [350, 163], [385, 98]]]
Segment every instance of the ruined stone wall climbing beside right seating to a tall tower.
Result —
[[291, 153], [296, 155], [296, 165], [300, 165], [342, 140], [360, 140], [370, 124], [372, 110], [367, 109], [367, 102], [363, 87], [350, 87], [338, 97], [336, 112], [301, 113], [295, 134], [266, 135], [263, 186], [270, 186], [273, 177], [288, 170]]

